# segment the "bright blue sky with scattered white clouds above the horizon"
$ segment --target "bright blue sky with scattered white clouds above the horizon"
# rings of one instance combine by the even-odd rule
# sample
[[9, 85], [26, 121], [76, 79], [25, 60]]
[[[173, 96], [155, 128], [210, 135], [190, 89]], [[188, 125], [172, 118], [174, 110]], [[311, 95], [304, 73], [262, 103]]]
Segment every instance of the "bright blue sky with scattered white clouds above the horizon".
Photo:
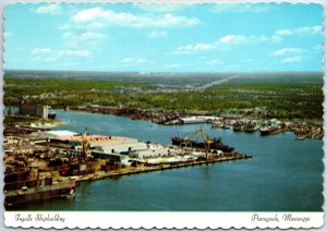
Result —
[[318, 4], [10, 4], [5, 70], [323, 70]]

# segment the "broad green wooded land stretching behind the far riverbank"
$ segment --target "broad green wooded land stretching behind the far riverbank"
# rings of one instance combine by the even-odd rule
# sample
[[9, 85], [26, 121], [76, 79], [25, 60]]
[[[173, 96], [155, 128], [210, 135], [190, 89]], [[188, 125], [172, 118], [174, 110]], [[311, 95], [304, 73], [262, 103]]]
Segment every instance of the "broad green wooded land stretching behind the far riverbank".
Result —
[[[202, 110], [213, 113], [266, 109], [267, 118], [323, 120], [323, 82], [234, 82], [199, 91], [154, 91], [150, 83], [68, 80], [4, 78], [4, 105], [31, 102], [64, 106], [124, 106], [142, 109]], [[120, 89], [117, 91], [117, 89]]]

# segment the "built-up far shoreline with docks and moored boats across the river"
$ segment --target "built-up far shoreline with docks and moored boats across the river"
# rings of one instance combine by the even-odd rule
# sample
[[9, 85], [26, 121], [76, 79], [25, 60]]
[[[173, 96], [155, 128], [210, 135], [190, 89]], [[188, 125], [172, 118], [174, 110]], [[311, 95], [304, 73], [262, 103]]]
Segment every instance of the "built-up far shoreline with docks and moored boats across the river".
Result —
[[[234, 129], [235, 124], [257, 124], [261, 125], [265, 120], [253, 117], [234, 117], [228, 118], [223, 115], [214, 115], [214, 113], [207, 111], [168, 111], [168, 110], [145, 110], [134, 108], [119, 108], [119, 107], [71, 107], [69, 110], [87, 112], [87, 113], [100, 113], [109, 115], [125, 117], [132, 120], [142, 120], [146, 122], [153, 122], [162, 125], [184, 125], [184, 124], [211, 124], [213, 129]], [[182, 119], [192, 119], [193, 122], [183, 122]], [[268, 135], [277, 135], [283, 132], [292, 132], [295, 134], [296, 139], [303, 141], [306, 138], [323, 139], [324, 129], [323, 122], [306, 121], [303, 120], [282, 120], [281, 125], [275, 127]], [[253, 124], [254, 123], [254, 124]], [[219, 125], [220, 124], [220, 125]], [[238, 130], [234, 132], [252, 133], [258, 131], [259, 126], [255, 130]], [[267, 134], [265, 134], [266, 136]]]

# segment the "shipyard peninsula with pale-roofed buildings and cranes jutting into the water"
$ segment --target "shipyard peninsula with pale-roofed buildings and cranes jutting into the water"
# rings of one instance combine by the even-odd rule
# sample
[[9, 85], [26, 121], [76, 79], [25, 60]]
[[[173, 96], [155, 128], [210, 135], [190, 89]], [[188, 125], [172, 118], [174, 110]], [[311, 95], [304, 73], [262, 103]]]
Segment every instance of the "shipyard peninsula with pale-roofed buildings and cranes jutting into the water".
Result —
[[86, 127], [77, 133], [35, 123], [5, 124], [4, 205], [10, 209], [29, 202], [71, 198], [77, 183], [85, 181], [252, 158], [233, 151], [221, 138], [211, 138], [202, 126], [193, 133], [196, 141], [187, 136], [172, 137], [171, 145], [164, 145], [88, 134]]

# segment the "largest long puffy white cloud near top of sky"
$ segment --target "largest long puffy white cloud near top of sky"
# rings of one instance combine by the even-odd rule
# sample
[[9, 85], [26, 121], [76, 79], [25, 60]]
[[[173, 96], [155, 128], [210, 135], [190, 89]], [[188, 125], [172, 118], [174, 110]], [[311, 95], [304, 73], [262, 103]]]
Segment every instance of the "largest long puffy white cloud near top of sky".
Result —
[[125, 27], [173, 27], [173, 26], [195, 26], [199, 21], [195, 17], [174, 16], [170, 13], [164, 15], [132, 13], [118, 13], [102, 8], [90, 8], [77, 12], [72, 22], [75, 24], [94, 24], [101, 26], [125, 26]]

